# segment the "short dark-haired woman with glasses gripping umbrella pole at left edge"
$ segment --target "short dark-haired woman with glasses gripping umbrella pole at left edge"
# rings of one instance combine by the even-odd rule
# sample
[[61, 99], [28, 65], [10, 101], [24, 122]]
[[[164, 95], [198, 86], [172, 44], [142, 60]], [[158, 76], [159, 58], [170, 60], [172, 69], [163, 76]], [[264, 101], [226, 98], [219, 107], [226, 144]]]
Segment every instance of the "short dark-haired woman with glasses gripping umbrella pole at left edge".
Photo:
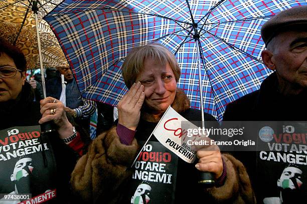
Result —
[[[0, 145], [7, 149], [1, 151], [1, 169], [9, 170], [4, 166], [25, 155], [31, 158], [29, 166], [34, 166], [21, 164], [21, 170], [9, 179], [15, 185], [13, 189], [10, 182], [4, 182], [8, 178], [1, 177], [0, 193], [27, 192], [35, 197], [50, 192], [50, 199], [57, 197], [57, 203], [67, 203], [70, 173], [77, 158], [73, 149], [79, 151], [83, 145], [80, 140], [76, 144], [74, 139], [80, 137], [81, 130], [78, 127], [75, 130], [59, 100], [47, 97], [34, 101], [34, 91], [26, 81], [25, 56], [3, 39], [0, 39], [0, 117]], [[55, 125], [56, 131], [50, 132], [50, 136], [41, 134], [40, 124], [44, 122]]]

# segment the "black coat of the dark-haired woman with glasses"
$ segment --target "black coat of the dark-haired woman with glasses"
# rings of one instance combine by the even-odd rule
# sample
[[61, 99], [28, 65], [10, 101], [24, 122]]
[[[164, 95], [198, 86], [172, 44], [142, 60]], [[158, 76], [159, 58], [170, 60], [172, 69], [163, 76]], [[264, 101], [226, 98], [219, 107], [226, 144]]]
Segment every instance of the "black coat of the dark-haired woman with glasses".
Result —
[[[0, 129], [14, 126], [39, 125], [42, 117], [39, 101], [33, 101], [34, 91], [28, 82], [22, 88], [16, 100], [0, 103], [0, 115], [2, 122]], [[77, 154], [53, 132], [49, 137], [54, 150], [57, 163], [57, 203], [69, 203], [69, 179], [70, 173], [77, 160]]]

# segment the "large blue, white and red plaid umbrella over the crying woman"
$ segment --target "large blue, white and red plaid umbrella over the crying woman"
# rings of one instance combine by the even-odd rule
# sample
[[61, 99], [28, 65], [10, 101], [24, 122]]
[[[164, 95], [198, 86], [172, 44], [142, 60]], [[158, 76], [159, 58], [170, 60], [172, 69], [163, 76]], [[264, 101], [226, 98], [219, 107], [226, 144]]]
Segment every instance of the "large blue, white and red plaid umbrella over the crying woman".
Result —
[[[120, 66], [135, 46], [158, 42], [182, 68], [192, 108], [222, 118], [227, 103], [259, 88], [261, 25], [306, 0], [64, 0], [44, 19], [82, 96], [116, 105], [127, 91]], [[200, 77], [199, 77], [200, 76]], [[201, 83], [199, 83], [201, 79]], [[201, 85], [200, 85], [201, 84]]]

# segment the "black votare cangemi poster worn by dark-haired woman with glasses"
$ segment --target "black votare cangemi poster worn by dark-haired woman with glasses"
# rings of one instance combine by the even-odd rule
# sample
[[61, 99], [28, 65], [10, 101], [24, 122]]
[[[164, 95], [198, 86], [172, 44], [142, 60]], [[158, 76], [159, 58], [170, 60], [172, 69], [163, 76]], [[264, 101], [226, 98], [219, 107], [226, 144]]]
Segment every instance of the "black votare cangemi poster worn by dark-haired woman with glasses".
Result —
[[42, 203], [53, 199], [55, 177], [52, 147], [39, 125], [0, 131], [0, 203]]

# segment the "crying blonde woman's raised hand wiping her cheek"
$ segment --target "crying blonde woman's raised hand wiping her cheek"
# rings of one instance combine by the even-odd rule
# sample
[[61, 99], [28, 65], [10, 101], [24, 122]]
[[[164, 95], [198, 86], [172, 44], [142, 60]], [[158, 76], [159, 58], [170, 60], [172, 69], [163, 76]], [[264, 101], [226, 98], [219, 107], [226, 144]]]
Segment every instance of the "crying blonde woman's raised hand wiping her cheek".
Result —
[[140, 117], [140, 108], [145, 99], [144, 86], [138, 81], [133, 83], [130, 90], [117, 104], [118, 123], [135, 130]]

